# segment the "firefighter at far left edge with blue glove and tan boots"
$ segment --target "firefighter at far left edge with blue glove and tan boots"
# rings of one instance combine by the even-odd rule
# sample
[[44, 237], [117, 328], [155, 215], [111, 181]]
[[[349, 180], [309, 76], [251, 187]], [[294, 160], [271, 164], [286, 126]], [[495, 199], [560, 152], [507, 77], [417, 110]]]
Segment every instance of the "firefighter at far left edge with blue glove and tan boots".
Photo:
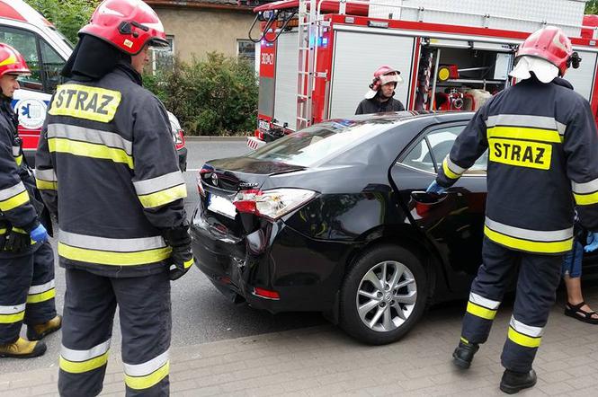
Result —
[[[17, 77], [30, 73], [21, 54], [0, 43], [0, 357], [41, 356], [46, 345], [37, 340], [60, 328], [54, 254], [40, 223], [44, 206], [11, 107]], [[22, 322], [28, 340], [19, 337]]]

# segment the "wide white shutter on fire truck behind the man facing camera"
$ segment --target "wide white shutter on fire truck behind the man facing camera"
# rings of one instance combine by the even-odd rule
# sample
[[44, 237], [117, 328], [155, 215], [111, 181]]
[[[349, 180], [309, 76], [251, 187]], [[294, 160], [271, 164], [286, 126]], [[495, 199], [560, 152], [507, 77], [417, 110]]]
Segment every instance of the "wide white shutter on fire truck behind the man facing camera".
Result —
[[381, 65], [397, 68], [403, 84], [395, 98], [406, 107], [415, 39], [355, 31], [336, 31], [330, 95], [330, 119], [350, 117], [364, 99], [374, 71]]

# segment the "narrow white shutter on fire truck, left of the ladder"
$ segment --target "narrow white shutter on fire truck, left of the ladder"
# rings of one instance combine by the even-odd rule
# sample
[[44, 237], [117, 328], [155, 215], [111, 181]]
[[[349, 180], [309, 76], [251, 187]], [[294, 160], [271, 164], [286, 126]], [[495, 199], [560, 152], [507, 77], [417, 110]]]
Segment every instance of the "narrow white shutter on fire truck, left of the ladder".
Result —
[[277, 124], [289, 123], [287, 128], [297, 126], [297, 76], [299, 51], [297, 31], [281, 34], [276, 44], [276, 87], [274, 88], [274, 119]]

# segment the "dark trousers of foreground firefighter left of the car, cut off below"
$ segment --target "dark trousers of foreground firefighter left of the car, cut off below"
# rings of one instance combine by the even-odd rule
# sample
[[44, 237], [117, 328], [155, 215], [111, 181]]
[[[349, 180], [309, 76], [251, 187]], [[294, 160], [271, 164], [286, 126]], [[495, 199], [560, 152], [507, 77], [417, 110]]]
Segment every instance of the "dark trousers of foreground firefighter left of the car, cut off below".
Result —
[[60, 395], [87, 397], [102, 392], [118, 305], [126, 395], [167, 396], [172, 328], [168, 273], [108, 278], [67, 269], [66, 278]]

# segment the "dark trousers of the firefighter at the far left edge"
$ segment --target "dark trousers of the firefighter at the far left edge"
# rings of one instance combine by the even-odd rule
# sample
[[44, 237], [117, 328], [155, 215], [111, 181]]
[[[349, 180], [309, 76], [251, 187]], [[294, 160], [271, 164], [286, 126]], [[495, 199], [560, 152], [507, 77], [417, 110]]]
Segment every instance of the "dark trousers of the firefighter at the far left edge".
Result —
[[24, 255], [0, 257], [0, 344], [19, 338], [22, 323], [56, 317], [54, 252], [48, 242]]

